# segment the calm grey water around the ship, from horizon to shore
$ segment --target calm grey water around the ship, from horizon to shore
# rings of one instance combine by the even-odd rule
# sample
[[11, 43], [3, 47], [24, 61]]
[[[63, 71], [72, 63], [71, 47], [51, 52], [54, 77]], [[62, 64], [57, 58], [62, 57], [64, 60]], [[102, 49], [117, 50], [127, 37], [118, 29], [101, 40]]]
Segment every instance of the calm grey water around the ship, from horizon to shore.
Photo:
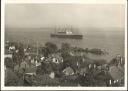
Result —
[[67, 42], [72, 46], [82, 48], [100, 48], [109, 52], [106, 56], [89, 55], [94, 59], [102, 58], [108, 61], [116, 54], [124, 55], [124, 30], [116, 31], [115, 29], [95, 30], [81, 29], [83, 39], [60, 39], [51, 38], [52, 29], [6, 29], [5, 39], [9, 41], [20, 41], [36, 45], [44, 45], [46, 42], [53, 42], [60, 47], [61, 43]]

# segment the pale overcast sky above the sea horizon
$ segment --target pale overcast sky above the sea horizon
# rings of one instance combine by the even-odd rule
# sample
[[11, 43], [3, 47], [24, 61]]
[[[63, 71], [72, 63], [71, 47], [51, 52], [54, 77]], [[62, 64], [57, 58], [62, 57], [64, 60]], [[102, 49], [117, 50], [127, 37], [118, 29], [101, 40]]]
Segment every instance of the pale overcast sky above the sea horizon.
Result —
[[124, 27], [119, 4], [6, 4], [6, 27]]

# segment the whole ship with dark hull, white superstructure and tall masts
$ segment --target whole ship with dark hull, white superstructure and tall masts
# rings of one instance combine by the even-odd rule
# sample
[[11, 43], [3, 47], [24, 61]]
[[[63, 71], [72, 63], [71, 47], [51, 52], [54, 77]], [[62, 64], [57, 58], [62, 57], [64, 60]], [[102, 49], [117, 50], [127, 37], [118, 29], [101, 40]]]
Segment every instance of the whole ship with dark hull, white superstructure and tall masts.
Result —
[[73, 32], [73, 28], [59, 28], [54, 33], [51, 33], [51, 37], [82, 39], [83, 35]]

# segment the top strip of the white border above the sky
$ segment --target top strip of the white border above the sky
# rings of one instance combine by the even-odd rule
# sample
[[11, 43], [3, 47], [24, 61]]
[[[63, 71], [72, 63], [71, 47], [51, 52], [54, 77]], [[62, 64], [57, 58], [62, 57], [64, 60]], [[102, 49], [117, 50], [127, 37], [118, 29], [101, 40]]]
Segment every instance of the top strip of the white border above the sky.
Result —
[[101, 3], [123, 4], [126, 0], [5, 0], [6, 3]]

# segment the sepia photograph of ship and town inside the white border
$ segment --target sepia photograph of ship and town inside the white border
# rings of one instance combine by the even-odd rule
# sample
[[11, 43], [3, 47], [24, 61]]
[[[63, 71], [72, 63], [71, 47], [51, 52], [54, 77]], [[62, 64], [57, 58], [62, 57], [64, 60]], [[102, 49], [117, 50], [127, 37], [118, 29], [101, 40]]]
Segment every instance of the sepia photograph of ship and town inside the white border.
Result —
[[4, 87], [125, 87], [125, 8], [6, 3]]

